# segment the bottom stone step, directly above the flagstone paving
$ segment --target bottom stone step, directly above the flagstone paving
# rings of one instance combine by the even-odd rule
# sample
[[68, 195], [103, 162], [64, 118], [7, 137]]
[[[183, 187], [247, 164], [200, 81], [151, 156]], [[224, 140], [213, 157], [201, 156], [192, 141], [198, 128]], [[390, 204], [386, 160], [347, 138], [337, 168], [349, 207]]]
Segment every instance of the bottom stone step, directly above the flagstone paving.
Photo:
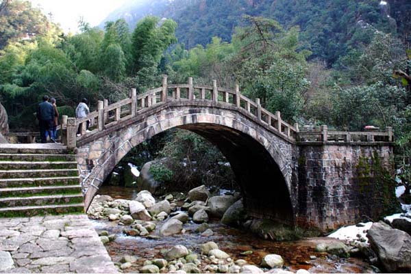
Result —
[[0, 208], [0, 217], [32, 217], [40, 215], [84, 214], [84, 204], [58, 204], [49, 206], [17, 206]]

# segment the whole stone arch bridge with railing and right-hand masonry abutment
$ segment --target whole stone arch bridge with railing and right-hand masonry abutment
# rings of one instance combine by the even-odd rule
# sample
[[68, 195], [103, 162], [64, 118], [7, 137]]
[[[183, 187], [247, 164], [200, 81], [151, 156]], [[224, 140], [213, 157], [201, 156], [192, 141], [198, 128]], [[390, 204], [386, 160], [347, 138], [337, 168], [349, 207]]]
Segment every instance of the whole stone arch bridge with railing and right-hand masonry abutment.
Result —
[[[90, 121], [92, 131], [86, 131]], [[82, 134], [76, 136], [77, 126]], [[108, 105], [99, 101], [88, 117], [64, 120], [63, 139], [76, 150], [86, 208], [115, 165], [142, 141], [184, 128], [227, 157], [253, 217], [323, 230], [378, 217], [391, 172], [393, 137], [385, 132], [300, 132], [270, 113], [260, 100], [216, 85], [168, 84]]]

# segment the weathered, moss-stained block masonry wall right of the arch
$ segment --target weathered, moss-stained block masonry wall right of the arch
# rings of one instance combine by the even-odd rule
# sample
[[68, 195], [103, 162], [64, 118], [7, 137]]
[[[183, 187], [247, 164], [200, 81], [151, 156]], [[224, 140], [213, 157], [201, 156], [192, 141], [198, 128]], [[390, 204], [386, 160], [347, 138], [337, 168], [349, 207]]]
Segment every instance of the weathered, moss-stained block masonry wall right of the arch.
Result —
[[[378, 219], [393, 198], [390, 146], [301, 146], [299, 154], [299, 223], [322, 230]], [[365, 218], [366, 218], [365, 217]]]

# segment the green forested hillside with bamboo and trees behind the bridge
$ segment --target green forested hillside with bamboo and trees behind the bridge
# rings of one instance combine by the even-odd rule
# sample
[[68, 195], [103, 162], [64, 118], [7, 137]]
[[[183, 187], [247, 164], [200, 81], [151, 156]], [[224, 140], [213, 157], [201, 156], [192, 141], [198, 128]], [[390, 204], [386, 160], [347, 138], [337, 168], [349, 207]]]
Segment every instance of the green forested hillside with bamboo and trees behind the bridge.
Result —
[[146, 16], [129, 27], [119, 18], [103, 30], [80, 22], [76, 35], [27, 1], [0, 3], [0, 99], [13, 131], [36, 127], [43, 94], [73, 116], [81, 98], [94, 109], [132, 87], [158, 86], [167, 74], [173, 83], [238, 83], [301, 128], [393, 126], [399, 155], [411, 154], [407, 1], [175, 0], [164, 11], [147, 10], [175, 20]]

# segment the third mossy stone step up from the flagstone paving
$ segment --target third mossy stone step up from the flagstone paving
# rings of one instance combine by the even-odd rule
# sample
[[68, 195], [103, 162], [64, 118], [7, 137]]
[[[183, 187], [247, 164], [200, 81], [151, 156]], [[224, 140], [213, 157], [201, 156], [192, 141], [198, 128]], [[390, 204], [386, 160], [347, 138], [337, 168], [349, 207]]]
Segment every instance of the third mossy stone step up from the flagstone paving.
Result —
[[69, 185], [60, 187], [8, 187], [0, 189], [0, 197], [27, 197], [33, 195], [63, 195], [82, 193], [79, 185]]

